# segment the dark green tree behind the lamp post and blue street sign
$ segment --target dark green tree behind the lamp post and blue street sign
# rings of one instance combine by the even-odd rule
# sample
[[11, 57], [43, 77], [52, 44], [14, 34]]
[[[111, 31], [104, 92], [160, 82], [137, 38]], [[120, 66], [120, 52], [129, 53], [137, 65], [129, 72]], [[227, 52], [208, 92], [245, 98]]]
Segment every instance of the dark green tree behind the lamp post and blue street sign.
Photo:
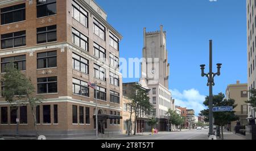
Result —
[[[219, 93], [218, 95], [213, 96], [213, 106], [232, 106], [235, 108], [237, 104], [235, 104], [234, 99], [225, 99], [225, 95]], [[204, 105], [209, 107], [209, 97], [207, 96], [204, 101]], [[201, 116], [205, 116], [205, 121], [209, 121], [209, 109], [202, 110], [200, 113]], [[221, 127], [221, 139], [224, 139], [223, 136], [223, 127], [224, 125], [230, 123], [231, 121], [238, 120], [238, 116], [235, 115], [235, 111], [232, 112], [213, 112], [214, 124]]]

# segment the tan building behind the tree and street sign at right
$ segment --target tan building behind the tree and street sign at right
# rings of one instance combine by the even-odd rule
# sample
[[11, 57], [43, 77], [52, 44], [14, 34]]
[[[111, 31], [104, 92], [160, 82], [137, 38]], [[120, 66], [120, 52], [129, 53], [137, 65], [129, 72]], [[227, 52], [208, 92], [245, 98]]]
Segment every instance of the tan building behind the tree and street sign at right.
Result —
[[[247, 83], [240, 83], [237, 81], [236, 84], [230, 84], [226, 88], [226, 99], [236, 100], [235, 104], [237, 107], [233, 110], [236, 111], [236, 115], [239, 117], [241, 124], [246, 125], [248, 122], [246, 120], [248, 110], [247, 110]], [[237, 121], [232, 121], [230, 125], [230, 130], [233, 132], [234, 127], [236, 127]]]

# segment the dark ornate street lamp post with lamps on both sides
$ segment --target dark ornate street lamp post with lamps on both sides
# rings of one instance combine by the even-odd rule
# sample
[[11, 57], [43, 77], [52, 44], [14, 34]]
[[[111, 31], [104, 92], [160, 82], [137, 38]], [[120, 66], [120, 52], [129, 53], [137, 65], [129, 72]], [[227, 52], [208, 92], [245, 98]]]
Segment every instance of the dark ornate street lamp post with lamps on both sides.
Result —
[[212, 40], [210, 40], [210, 54], [209, 54], [209, 73], [204, 73], [205, 65], [200, 65], [201, 67], [201, 76], [208, 78], [207, 86], [209, 86], [209, 136], [214, 135], [213, 133], [213, 94], [212, 94], [212, 86], [215, 85], [214, 77], [216, 75], [220, 76], [220, 69], [222, 64], [217, 64], [217, 73], [212, 72]]

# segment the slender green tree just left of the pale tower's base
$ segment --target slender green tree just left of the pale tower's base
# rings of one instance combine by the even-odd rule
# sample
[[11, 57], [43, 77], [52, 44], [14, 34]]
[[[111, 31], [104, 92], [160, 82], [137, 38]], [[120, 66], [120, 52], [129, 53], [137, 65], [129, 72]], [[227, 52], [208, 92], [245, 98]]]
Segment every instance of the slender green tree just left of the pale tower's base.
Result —
[[[134, 135], [136, 135], [136, 121], [139, 115], [142, 114], [142, 112], [151, 112], [152, 110], [152, 105], [150, 104], [150, 98], [148, 97], [148, 91], [144, 89], [141, 84], [135, 83], [131, 87], [131, 93], [129, 94], [129, 99], [131, 100], [130, 108], [130, 114], [133, 112], [135, 113], [135, 124], [134, 124]], [[132, 111], [133, 110], [133, 111]], [[130, 115], [131, 119], [131, 115]], [[131, 121], [129, 124], [129, 129], [130, 129]], [[128, 133], [130, 135], [130, 133]]]

